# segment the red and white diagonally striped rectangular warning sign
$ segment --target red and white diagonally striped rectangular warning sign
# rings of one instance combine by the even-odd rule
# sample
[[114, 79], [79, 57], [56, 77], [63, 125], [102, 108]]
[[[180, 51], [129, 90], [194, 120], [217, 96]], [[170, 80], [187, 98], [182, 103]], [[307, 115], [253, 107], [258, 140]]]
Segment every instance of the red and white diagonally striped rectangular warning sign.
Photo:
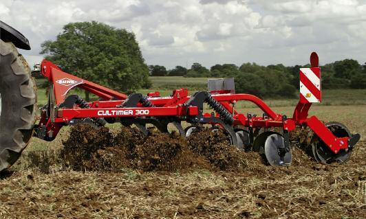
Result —
[[300, 101], [321, 102], [321, 71], [319, 67], [300, 69]]

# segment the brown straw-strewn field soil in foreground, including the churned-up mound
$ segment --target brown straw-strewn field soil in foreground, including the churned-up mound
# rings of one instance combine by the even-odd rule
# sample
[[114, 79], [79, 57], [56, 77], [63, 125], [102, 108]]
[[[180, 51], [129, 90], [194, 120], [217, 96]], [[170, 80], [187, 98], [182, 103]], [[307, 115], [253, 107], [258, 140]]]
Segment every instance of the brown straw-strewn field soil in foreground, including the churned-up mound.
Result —
[[316, 163], [305, 142], [273, 168], [208, 128], [182, 139], [74, 126], [61, 152], [25, 154], [29, 165], [3, 173], [0, 217], [366, 218], [366, 142], [344, 165]]

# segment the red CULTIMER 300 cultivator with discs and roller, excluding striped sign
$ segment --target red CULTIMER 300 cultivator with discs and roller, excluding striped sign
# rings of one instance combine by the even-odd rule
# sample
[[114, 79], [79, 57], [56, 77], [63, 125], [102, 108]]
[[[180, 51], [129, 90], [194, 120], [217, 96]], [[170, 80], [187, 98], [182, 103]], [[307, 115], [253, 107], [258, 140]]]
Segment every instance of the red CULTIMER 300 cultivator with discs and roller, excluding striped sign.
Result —
[[[319, 69], [320, 76], [316, 53], [312, 53], [310, 61], [312, 68]], [[93, 126], [104, 126], [107, 122], [121, 122], [126, 126], [135, 124], [144, 134], [147, 134], [146, 124], [168, 132], [167, 126], [172, 123], [183, 137], [197, 124], [211, 124], [224, 128], [230, 135], [231, 143], [238, 148], [262, 152], [271, 165], [286, 165], [291, 163], [289, 132], [297, 126], [308, 126], [314, 132], [318, 138], [313, 142], [314, 158], [322, 163], [346, 161], [360, 139], [358, 134], [336, 135], [317, 117], [308, 117], [312, 103], [303, 96], [292, 117], [287, 117], [275, 113], [259, 97], [245, 93], [198, 91], [189, 96], [187, 89], [177, 89], [169, 97], [160, 97], [159, 92], [127, 96], [65, 73], [48, 60], [41, 62], [41, 73], [49, 80], [50, 92], [48, 104], [41, 108], [35, 136], [46, 141], [52, 141], [63, 126], [78, 123]], [[93, 93], [100, 100], [85, 102], [78, 95], [67, 95], [75, 87]], [[238, 101], [256, 104], [263, 115], [239, 113], [235, 110]], [[208, 104], [213, 111], [205, 113], [204, 104]], [[191, 130], [184, 130], [181, 122], [193, 124]], [[275, 127], [281, 132], [270, 130]], [[258, 130], [261, 132], [258, 133]], [[337, 155], [340, 153], [342, 157]]]

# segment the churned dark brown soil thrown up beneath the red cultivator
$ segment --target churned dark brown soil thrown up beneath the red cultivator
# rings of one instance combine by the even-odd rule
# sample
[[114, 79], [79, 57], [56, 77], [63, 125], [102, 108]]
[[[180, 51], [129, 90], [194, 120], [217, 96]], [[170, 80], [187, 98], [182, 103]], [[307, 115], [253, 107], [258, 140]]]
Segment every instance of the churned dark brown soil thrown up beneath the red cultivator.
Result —
[[[297, 138], [296, 133], [292, 140]], [[299, 147], [300, 148], [300, 147]], [[312, 164], [308, 155], [293, 148], [293, 165]], [[162, 133], [153, 128], [144, 136], [137, 128], [112, 134], [109, 128], [73, 126], [63, 142], [61, 161], [73, 170], [118, 172], [125, 168], [142, 171], [208, 170], [266, 171], [266, 159], [257, 152], [244, 152], [230, 146], [224, 130], [202, 126], [187, 139], [176, 132]]]

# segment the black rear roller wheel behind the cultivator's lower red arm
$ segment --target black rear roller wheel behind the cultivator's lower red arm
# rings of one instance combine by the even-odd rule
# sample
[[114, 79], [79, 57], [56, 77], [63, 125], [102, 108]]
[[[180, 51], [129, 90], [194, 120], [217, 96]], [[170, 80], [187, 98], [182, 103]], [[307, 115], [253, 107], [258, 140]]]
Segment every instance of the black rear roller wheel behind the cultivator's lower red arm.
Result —
[[[348, 128], [339, 122], [329, 122], [325, 124], [327, 128], [336, 137], [351, 137]], [[345, 142], [347, 143], [347, 142]], [[347, 150], [342, 149], [337, 154], [334, 154], [319, 137], [314, 135], [312, 139], [312, 156], [319, 163], [330, 164], [333, 162], [345, 163], [349, 160], [352, 154], [352, 148]]]

